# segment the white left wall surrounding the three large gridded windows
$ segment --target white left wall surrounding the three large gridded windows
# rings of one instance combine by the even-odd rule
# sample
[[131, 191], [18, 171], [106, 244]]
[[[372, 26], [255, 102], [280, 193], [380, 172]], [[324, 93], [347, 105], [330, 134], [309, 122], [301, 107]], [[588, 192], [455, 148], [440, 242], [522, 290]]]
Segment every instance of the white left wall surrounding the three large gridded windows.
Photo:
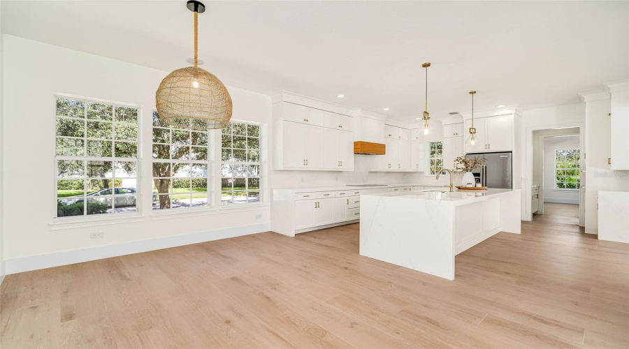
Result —
[[[3, 111], [10, 117], [4, 119], [2, 130], [5, 147], [1, 206], [5, 218], [3, 258], [7, 261], [8, 273], [52, 266], [46, 263], [58, 265], [92, 256], [102, 258], [116, 251], [132, 253], [152, 246], [164, 248], [168, 244], [268, 230], [268, 206], [168, 218], [145, 211], [139, 221], [130, 223], [51, 230], [48, 223], [52, 222], [55, 212], [53, 94], [141, 105], [140, 170], [144, 173], [140, 173], [138, 186], [144, 192], [143, 207], [151, 207], [151, 174], [146, 171], [152, 161], [151, 138], [147, 135], [151, 134], [154, 93], [168, 72], [15, 36], [3, 36], [3, 40]], [[233, 87], [228, 89], [233, 98], [233, 119], [270, 122], [268, 96]], [[269, 134], [268, 138], [271, 137]], [[272, 183], [272, 173], [268, 177]], [[263, 192], [265, 194], [268, 198], [268, 191]], [[90, 239], [90, 232], [104, 232], [105, 237]], [[122, 245], [131, 242], [136, 251]], [[81, 250], [85, 248], [87, 250]], [[64, 251], [73, 251], [73, 259], [64, 260]], [[33, 257], [36, 255], [38, 257]]]

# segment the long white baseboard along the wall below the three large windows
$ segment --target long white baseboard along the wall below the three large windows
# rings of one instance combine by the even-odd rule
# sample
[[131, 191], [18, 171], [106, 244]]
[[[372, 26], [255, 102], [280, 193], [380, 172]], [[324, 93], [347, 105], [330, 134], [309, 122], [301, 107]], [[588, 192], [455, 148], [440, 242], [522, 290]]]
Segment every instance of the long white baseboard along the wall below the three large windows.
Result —
[[226, 239], [229, 237], [268, 232], [269, 230], [270, 223], [260, 223], [234, 228], [208, 230], [205, 232], [194, 232], [191, 234], [173, 235], [170, 237], [158, 237], [156, 239], [140, 240], [136, 242], [125, 242], [124, 244], [81, 248], [78, 250], [46, 253], [43, 255], [29, 255], [27, 257], [5, 260], [6, 274], [29, 272], [31, 270], [117, 257], [119, 255], [130, 255], [132, 253], [198, 244], [200, 242]]

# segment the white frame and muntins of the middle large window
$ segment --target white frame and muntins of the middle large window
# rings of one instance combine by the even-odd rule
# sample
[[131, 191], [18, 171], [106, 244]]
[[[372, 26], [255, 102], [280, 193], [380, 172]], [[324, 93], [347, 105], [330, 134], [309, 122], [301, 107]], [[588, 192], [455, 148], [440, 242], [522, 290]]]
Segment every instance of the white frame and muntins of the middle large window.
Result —
[[[196, 129], [192, 129], [192, 128], [180, 128], [177, 126], [171, 126], [169, 125], [166, 129], [169, 130], [169, 135], [171, 135], [171, 139], [170, 139], [170, 143], [160, 143], [160, 142], [153, 142], [153, 130], [154, 128], [165, 128], [164, 126], [154, 126], [153, 124], [153, 117], [154, 115], [157, 114], [157, 110], [153, 109], [151, 112], [151, 125], [150, 125], [150, 143], [151, 143], [151, 154], [150, 154], [150, 167], [151, 167], [151, 174], [150, 174], [150, 181], [151, 181], [151, 214], [155, 215], [155, 216], [159, 216], [159, 215], [171, 215], [171, 214], [189, 214], [191, 212], [198, 212], [198, 211], [212, 211], [215, 210], [215, 204], [212, 200], [213, 195], [214, 195], [214, 189], [213, 189], [213, 181], [215, 178], [215, 165], [214, 165], [214, 151], [215, 151], [215, 131], [217, 130], [196, 130]], [[159, 117], [159, 114], [158, 114]], [[183, 130], [187, 130], [189, 132], [206, 132], [207, 133], [207, 159], [205, 161], [198, 161], [198, 160], [185, 160], [185, 159], [173, 159], [171, 158], [172, 155], [169, 155], [168, 159], [160, 159], [160, 158], [153, 158], [152, 154], [153, 154], [153, 145], [154, 144], [168, 144], [169, 146], [173, 145], [173, 140], [172, 140], [172, 131], [173, 129], [178, 130], [178, 129], [183, 129]], [[191, 134], [190, 134], [191, 137]], [[191, 140], [191, 138], [190, 138]], [[192, 144], [189, 144], [188, 147], [191, 149], [191, 147], [193, 147]], [[169, 154], [171, 154], [171, 151], [169, 151]], [[193, 164], [193, 163], [205, 163], [205, 165], [207, 166], [207, 176], [205, 177], [206, 179], [206, 187], [205, 187], [205, 194], [206, 194], [206, 204], [203, 206], [192, 206], [190, 205], [189, 207], [178, 207], [178, 208], [173, 208], [170, 207], [168, 209], [153, 209], [152, 208], [152, 203], [153, 203], [153, 186], [154, 186], [154, 179], [156, 178], [166, 178], [166, 177], [153, 177], [153, 163], [160, 163], [160, 162], [168, 162], [168, 163], [189, 163], [189, 164]], [[168, 177], [169, 179], [171, 179], [171, 183], [170, 183], [170, 188], [171, 191], [168, 192], [168, 194], [160, 194], [159, 192], [155, 195], [170, 195], [170, 196], [174, 196], [174, 195], [184, 195], [182, 194], [176, 194], [172, 191], [173, 189], [173, 185], [174, 185], [174, 179], [177, 179], [178, 177], [174, 176], [174, 173], [172, 172], [173, 168], [171, 166], [171, 176]], [[203, 179], [204, 177], [183, 177], [183, 178], [190, 178], [190, 179]], [[191, 184], [190, 187], [190, 195], [194, 195], [194, 190], [193, 190], [193, 186]], [[172, 200], [172, 198], [171, 198]]]

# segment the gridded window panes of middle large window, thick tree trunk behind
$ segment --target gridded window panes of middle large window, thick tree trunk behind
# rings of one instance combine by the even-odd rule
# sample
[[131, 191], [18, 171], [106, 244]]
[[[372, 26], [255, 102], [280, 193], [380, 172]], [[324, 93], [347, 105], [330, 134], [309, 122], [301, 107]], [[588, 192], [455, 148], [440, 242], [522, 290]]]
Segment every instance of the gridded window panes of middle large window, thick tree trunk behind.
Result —
[[153, 112], [153, 209], [208, 206], [209, 131], [168, 126]]

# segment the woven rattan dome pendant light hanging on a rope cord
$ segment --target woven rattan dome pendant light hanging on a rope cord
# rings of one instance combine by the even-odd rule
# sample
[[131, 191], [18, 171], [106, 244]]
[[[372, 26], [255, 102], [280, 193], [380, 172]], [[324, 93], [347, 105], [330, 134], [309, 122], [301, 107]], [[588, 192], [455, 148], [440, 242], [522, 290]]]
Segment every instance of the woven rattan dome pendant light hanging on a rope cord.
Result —
[[161, 80], [155, 93], [157, 112], [164, 123], [173, 126], [224, 128], [231, 119], [231, 96], [218, 77], [198, 68], [197, 18], [205, 6], [190, 0], [187, 8], [194, 12], [194, 67], [174, 70]]

